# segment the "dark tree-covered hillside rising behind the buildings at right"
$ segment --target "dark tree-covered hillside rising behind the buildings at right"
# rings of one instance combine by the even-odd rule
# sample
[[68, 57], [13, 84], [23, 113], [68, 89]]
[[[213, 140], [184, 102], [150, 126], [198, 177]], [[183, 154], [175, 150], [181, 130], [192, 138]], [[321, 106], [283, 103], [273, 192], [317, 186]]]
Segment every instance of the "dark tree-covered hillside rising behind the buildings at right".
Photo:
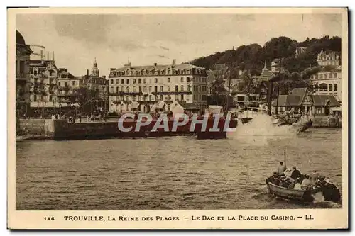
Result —
[[[307, 50], [299, 57], [295, 57], [296, 47], [307, 47]], [[251, 74], [261, 74], [261, 69], [266, 62], [270, 68], [271, 61], [275, 58], [283, 57], [283, 66], [289, 72], [302, 72], [309, 67], [317, 65], [317, 54], [321, 50], [342, 51], [342, 39], [335, 36], [329, 38], [307, 38], [303, 42], [297, 42], [291, 38], [280, 36], [271, 38], [265, 45], [256, 43], [251, 45], [241, 45], [236, 50], [226, 50], [215, 52], [207, 57], [199, 57], [192, 60], [190, 64], [195, 64], [206, 69], [213, 69], [214, 64], [236, 62], [240, 69], [249, 69]]]

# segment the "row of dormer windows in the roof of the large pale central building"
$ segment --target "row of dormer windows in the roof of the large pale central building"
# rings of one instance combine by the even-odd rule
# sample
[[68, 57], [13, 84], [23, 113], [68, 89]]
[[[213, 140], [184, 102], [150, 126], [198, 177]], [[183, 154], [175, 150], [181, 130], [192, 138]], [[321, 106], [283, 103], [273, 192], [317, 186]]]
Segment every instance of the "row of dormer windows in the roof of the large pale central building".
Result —
[[136, 71], [131, 71], [126, 69], [125, 71], [112, 71], [111, 76], [140, 76], [140, 75], [165, 75], [165, 74], [204, 74], [204, 69], [141, 69]]

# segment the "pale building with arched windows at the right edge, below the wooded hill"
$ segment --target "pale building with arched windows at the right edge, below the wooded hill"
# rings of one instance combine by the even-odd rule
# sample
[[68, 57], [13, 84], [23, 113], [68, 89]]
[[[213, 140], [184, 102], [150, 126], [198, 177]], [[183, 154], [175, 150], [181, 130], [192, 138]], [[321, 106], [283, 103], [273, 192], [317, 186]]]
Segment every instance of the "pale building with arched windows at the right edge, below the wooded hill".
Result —
[[335, 52], [320, 52], [317, 62], [322, 69], [310, 77], [316, 95], [331, 95], [342, 102], [342, 68], [340, 56]]

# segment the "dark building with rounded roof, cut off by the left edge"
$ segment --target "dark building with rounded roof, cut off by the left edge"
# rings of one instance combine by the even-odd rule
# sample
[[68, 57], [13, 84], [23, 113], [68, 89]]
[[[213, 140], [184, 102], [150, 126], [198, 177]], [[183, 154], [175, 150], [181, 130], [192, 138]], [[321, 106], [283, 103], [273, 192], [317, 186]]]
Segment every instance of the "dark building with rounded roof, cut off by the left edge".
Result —
[[29, 45], [16, 30], [16, 114], [23, 116], [30, 104], [29, 61], [32, 53]]

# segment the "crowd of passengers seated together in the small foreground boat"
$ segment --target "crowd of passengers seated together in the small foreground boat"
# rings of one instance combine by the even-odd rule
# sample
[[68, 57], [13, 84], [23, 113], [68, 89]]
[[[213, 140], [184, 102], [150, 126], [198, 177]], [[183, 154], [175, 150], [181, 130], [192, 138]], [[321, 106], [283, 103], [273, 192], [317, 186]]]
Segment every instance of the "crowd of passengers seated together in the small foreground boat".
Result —
[[273, 172], [273, 176], [269, 177], [267, 181], [287, 189], [307, 190], [323, 187], [337, 189], [333, 181], [317, 174], [317, 170], [313, 170], [309, 175], [302, 174], [295, 166], [293, 169], [286, 169], [283, 162], [280, 162], [277, 171]]

